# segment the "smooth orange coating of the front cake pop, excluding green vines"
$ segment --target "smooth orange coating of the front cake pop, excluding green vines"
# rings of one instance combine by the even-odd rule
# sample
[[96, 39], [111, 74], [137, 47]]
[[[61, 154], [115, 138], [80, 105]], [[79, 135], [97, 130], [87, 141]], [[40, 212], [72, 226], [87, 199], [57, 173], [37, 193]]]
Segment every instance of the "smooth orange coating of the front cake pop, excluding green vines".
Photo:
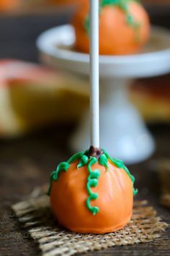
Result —
[[89, 176], [87, 166], [77, 168], [79, 162], [70, 164], [68, 171], [61, 171], [58, 180], [53, 181], [50, 204], [58, 223], [66, 229], [79, 233], [104, 234], [125, 226], [133, 211], [133, 183], [128, 174], [108, 161], [109, 169], [95, 163], [91, 166], [100, 170], [97, 187], [91, 191], [98, 193], [91, 206], [97, 206], [95, 216], [86, 206], [89, 194], [86, 183]]

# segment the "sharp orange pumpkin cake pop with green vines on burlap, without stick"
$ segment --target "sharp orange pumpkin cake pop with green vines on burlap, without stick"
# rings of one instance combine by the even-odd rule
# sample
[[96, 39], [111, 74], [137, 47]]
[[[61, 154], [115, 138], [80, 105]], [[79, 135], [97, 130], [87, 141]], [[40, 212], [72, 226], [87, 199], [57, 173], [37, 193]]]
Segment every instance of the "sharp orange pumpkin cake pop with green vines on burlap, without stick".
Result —
[[135, 179], [118, 159], [91, 147], [60, 163], [51, 174], [50, 205], [58, 223], [79, 233], [104, 234], [132, 216]]

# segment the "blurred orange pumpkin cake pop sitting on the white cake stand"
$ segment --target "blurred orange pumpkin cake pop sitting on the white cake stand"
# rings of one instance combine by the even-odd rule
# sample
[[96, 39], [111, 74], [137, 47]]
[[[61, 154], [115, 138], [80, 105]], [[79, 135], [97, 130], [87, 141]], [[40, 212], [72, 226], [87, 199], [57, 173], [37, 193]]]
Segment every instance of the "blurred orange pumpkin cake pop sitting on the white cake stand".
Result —
[[[89, 1], [81, 4], [73, 18], [75, 48], [89, 53]], [[99, 54], [135, 54], [147, 42], [150, 23], [137, 0], [99, 1]]]

